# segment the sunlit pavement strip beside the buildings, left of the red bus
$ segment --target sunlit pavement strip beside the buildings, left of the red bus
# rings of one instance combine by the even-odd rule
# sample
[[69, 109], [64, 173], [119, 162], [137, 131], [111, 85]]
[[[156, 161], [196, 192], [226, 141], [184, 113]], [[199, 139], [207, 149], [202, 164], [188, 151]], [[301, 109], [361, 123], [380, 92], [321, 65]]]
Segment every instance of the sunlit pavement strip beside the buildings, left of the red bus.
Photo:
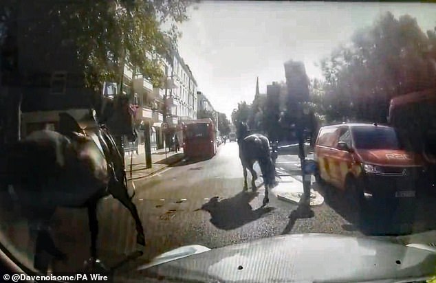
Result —
[[139, 154], [127, 152], [124, 154], [124, 164], [126, 164], [127, 179], [138, 180], [150, 177], [157, 172], [161, 172], [184, 158], [183, 148], [178, 152], [168, 151], [166, 148], [154, 150], [151, 153], [151, 168], [146, 168], [144, 149], [139, 150]]

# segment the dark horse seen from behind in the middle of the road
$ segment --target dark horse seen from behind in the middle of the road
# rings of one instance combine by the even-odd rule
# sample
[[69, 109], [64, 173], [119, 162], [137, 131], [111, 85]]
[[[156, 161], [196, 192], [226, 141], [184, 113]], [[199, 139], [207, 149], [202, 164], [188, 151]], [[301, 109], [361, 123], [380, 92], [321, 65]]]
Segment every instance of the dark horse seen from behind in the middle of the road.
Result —
[[270, 201], [268, 198], [268, 190], [274, 187], [276, 181], [274, 164], [272, 163], [270, 155], [270, 141], [268, 137], [261, 134], [250, 135], [247, 124], [243, 122], [237, 124], [237, 139], [239, 145], [239, 159], [241, 159], [243, 168], [243, 190], [248, 190], [247, 168], [252, 175], [252, 190], [257, 190], [256, 184], [254, 183], [257, 179], [257, 174], [253, 169], [254, 162], [257, 161], [263, 175], [263, 184], [265, 185], [263, 205], [266, 205]]

